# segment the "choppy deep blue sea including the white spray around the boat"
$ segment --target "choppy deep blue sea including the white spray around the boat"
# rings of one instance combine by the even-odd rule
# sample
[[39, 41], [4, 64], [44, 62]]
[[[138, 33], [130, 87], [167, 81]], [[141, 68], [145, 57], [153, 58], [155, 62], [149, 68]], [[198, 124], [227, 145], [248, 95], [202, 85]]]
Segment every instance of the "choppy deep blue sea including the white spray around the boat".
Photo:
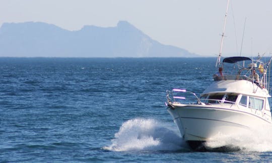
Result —
[[[272, 128], [190, 150], [166, 90], [199, 96], [216, 58], [0, 58], [1, 162], [272, 162]], [[261, 126], [260, 126], [261, 128]]]

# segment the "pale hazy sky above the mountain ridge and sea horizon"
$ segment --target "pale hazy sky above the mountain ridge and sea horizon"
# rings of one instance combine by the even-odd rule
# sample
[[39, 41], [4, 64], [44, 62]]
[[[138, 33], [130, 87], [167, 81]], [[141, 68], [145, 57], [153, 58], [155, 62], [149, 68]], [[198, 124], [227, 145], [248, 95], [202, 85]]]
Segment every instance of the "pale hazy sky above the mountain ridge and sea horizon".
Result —
[[[79, 30], [125, 20], [162, 44], [215, 56], [226, 7], [227, 0], [0, 0], [0, 26], [34, 21]], [[271, 7], [271, 0], [231, 0], [222, 55], [240, 54], [245, 19], [242, 55], [272, 52]]]

